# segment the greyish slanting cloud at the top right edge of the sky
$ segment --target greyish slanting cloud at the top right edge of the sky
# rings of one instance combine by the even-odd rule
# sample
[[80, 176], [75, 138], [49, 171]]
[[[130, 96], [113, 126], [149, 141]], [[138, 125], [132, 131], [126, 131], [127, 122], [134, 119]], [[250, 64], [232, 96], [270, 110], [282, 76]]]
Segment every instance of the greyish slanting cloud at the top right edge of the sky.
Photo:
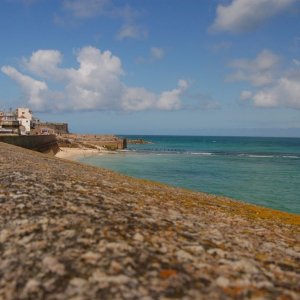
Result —
[[218, 5], [212, 31], [242, 33], [253, 30], [296, 3], [298, 0], [232, 0]]

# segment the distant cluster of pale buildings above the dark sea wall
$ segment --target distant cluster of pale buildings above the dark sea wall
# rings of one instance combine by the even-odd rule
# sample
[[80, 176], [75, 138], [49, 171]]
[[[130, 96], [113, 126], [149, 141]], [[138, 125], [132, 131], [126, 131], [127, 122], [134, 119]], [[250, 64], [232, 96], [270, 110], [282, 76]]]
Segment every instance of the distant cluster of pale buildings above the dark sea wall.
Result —
[[0, 111], [0, 134], [48, 135], [69, 133], [67, 123], [41, 123], [29, 108]]

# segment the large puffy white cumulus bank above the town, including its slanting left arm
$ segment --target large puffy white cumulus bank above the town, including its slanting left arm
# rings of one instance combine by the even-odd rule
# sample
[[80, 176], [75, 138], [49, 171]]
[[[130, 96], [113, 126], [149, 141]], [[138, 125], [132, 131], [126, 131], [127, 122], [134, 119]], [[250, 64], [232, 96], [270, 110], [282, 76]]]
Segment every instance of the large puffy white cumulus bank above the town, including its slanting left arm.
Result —
[[28, 104], [36, 110], [176, 110], [188, 87], [179, 80], [177, 88], [152, 93], [145, 88], [128, 87], [122, 82], [121, 60], [110, 51], [84, 47], [77, 54], [78, 68], [62, 68], [62, 54], [57, 50], [38, 50], [23, 65], [33, 76], [51, 83], [58, 90], [48, 89], [45, 81], [24, 75], [15, 68], [2, 67], [2, 72], [19, 84]]

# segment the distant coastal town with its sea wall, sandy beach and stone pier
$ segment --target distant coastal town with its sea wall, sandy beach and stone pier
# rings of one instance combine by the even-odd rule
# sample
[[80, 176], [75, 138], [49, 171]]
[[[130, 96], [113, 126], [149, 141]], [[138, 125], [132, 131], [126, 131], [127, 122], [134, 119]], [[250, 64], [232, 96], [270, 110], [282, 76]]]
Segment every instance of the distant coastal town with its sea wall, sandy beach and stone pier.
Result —
[[98, 153], [127, 147], [127, 140], [114, 135], [74, 134], [68, 123], [43, 122], [30, 108], [0, 111], [0, 142], [65, 157], [68, 153]]

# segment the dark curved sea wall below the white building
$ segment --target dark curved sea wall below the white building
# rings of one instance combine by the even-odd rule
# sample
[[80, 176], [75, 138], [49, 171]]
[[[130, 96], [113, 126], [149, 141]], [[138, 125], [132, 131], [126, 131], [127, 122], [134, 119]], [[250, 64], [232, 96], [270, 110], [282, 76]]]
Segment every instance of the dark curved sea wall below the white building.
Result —
[[2, 135], [0, 142], [43, 153], [56, 154], [59, 151], [55, 135]]

